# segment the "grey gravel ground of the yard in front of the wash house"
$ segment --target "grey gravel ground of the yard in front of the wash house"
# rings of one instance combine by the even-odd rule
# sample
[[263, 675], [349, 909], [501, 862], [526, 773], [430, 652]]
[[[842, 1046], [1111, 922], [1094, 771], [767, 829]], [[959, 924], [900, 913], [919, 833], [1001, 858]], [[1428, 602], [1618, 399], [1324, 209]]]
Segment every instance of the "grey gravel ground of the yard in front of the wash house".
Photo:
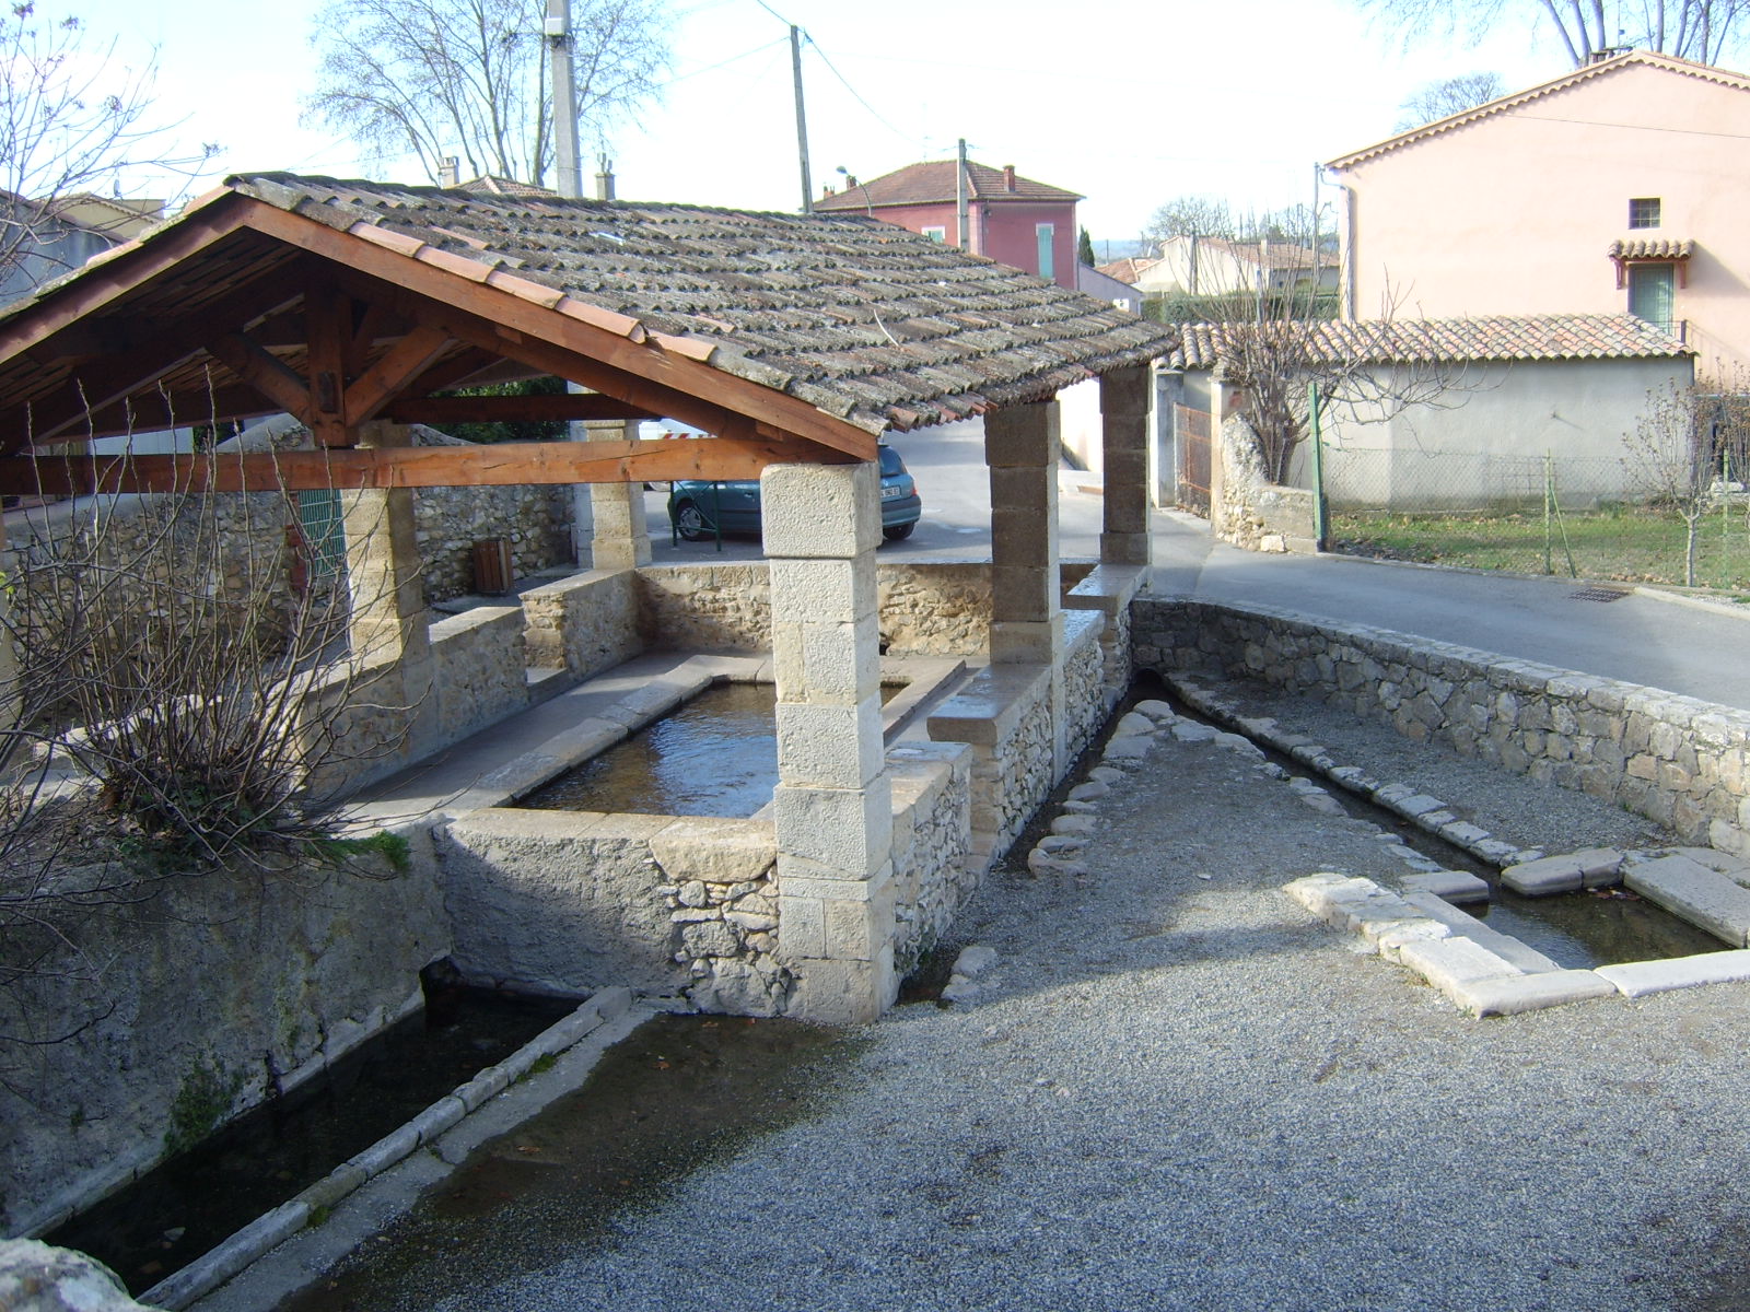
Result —
[[[1169, 735], [1096, 805], [1085, 875], [987, 882], [966, 925], [998, 953], [978, 999], [859, 1032], [812, 1118], [560, 1261], [466, 1289], [415, 1270], [397, 1298], [1750, 1307], [1743, 988], [1468, 1020], [1278, 890], [1396, 869], [1370, 824]], [[511, 1268], [518, 1230], [514, 1204], [490, 1221]]]

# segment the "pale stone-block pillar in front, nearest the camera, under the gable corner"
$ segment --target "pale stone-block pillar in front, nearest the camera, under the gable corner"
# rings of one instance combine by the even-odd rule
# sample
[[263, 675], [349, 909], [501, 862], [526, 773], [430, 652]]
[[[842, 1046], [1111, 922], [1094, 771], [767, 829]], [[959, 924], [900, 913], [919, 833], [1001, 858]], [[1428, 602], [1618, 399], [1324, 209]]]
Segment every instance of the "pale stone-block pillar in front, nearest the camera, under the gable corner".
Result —
[[873, 464], [760, 479], [777, 672], [779, 953], [791, 1015], [863, 1023], [898, 995], [892, 798], [880, 729]]

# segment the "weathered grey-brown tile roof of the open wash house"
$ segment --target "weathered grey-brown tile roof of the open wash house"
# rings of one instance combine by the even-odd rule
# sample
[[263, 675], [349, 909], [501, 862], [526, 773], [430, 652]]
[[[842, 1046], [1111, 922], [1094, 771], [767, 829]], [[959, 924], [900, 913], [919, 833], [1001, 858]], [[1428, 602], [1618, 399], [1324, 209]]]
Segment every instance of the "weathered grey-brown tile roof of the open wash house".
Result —
[[868, 432], [1043, 399], [1176, 341], [1106, 301], [861, 215], [289, 173], [233, 177], [226, 191], [634, 341], [656, 339]]

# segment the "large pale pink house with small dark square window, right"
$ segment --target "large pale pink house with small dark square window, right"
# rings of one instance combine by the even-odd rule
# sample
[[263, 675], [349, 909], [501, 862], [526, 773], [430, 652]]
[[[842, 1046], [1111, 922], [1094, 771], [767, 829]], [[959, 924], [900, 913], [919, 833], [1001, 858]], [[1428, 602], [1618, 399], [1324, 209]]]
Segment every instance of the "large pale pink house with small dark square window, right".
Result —
[[1631, 51], [1330, 161], [1344, 310], [1629, 311], [1750, 366], [1750, 77]]

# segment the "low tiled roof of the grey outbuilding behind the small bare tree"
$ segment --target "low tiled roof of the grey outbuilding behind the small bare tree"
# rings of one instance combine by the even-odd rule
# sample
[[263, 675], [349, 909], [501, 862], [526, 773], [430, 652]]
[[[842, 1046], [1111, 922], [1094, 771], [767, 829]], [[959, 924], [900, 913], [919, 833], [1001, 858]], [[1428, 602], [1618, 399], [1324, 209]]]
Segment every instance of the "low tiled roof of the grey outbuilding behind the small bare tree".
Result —
[[[1225, 324], [1183, 324], [1174, 369], [1213, 369]], [[1363, 318], [1314, 325], [1321, 359], [1360, 364], [1463, 360], [1615, 360], [1692, 355], [1668, 331], [1633, 315], [1488, 315]]]

